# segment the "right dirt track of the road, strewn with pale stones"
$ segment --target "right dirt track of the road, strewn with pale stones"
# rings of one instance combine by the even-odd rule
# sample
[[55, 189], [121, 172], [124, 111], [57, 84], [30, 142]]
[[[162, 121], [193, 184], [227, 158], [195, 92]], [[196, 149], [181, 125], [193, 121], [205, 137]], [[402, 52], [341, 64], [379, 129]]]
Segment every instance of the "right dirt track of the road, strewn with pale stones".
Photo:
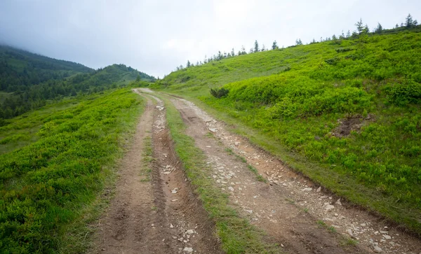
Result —
[[[289, 253], [420, 253], [420, 239], [341, 202], [276, 157], [227, 132], [223, 122], [192, 102], [171, 101], [188, 126], [187, 134], [206, 153], [215, 185], [229, 193], [230, 203], [241, 216]], [[257, 181], [247, 164], [226, 148], [246, 158], [268, 183]]]

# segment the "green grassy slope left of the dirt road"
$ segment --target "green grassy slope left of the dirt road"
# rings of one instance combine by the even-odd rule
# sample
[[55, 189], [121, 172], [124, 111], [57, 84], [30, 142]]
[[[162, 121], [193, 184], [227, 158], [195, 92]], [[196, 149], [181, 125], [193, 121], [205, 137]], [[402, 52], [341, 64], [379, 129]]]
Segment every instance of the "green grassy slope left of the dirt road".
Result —
[[100, 195], [112, 183], [114, 162], [133, 134], [142, 99], [131, 90], [116, 90], [58, 108], [43, 108], [1, 127], [1, 133], [15, 132], [42, 122], [34, 141], [0, 155], [0, 249], [5, 253], [88, 248], [89, 223], [105, 205], [107, 198]]

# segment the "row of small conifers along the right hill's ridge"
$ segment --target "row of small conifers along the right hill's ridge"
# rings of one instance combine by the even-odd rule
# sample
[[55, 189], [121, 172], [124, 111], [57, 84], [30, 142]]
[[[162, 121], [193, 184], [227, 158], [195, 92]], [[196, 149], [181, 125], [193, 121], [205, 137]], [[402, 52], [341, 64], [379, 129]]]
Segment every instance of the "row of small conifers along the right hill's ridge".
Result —
[[[395, 31], [400, 31], [402, 29], [412, 29], [412, 28], [418, 26], [418, 22], [417, 22], [417, 20], [413, 19], [412, 15], [408, 14], [408, 16], [405, 19], [405, 22], [401, 22], [400, 25], [396, 24], [396, 26], [393, 27], [392, 29], [384, 29], [382, 27], [382, 24], [380, 24], [380, 22], [377, 22], [377, 27], [375, 27], [372, 31], [370, 31], [370, 29], [368, 27], [368, 24], [363, 24], [363, 20], [361, 18], [358, 22], [356, 22], [355, 26], [356, 26], [355, 31], [351, 32], [351, 31], [348, 30], [347, 34], [345, 34], [344, 31], [342, 31], [342, 33], [339, 34], [339, 35], [333, 34], [333, 36], [331, 36], [331, 37], [326, 37], [326, 38], [321, 37], [319, 41], [316, 41], [313, 38], [313, 40], [309, 44], [319, 43], [319, 42], [323, 42], [323, 41], [338, 41], [338, 40], [346, 39], [346, 38], [358, 38], [361, 34], [383, 34], [385, 32], [391, 33], [391, 32], [395, 32]], [[303, 45], [300, 38], [297, 38], [297, 40], [295, 41], [295, 45]], [[292, 46], [295, 46], [295, 45], [292, 45]], [[283, 48], [283, 46], [282, 46], [282, 48]], [[276, 40], [272, 43], [272, 47], [270, 47], [270, 48], [265, 47], [265, 44], [263, 44], [262, 47], [260, 47], [258, 41], [255, 40], [255, 42], [253, 44], [253, 47], [250, 48], [250, 50], [248, 50], [248, 52], [246, 51], [246, 48], [244, 47], [244, 45], [241, 46], [241, 50], [239, 50], [238, 52], [236, 52], [234, 50], [234, 48], [232, 48], [231, 52], [218, 51], [218, 54], [215, 54], [211, 57], [205, 56], [203, 61], [197, 61], [196, 64], [187, 60], [187, 64], [185, 66], [180, 64], [180, 66], [177, 66], [175, 68], [175, 71], [179, 71], [181, 69], [190, 68], [190, 67], [194, 67], [194, 66], [200, 66], [200, 65], [203, 65], [203, 64], [207, 64], [209, 62], [220, 61], [222, 59], [229, 58], [229, 57], [236, 57], [236, 56], [239, 56], [239, 55], [246, 55], [246, 54], [251, 54], [251, 53], [255, 53], [255, 52], [262, 52], [262, 51], [267, 51], [267, 50], [278, 50], [278, 49], [280, 49], [280, 48], [279, 48], [279, 45], [276, 42]]]

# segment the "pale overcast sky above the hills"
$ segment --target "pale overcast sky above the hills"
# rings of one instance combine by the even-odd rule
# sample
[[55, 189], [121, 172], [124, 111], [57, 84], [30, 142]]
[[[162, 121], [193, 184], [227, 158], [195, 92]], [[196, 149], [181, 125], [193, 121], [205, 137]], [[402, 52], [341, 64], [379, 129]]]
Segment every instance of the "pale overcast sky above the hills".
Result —
[[126, 64], [163, 77], [255, 40], [293, 45], [353, 31], [359, 18], [391, 28], [420, 0], [0, 0], [0, 43], [94, 69]]

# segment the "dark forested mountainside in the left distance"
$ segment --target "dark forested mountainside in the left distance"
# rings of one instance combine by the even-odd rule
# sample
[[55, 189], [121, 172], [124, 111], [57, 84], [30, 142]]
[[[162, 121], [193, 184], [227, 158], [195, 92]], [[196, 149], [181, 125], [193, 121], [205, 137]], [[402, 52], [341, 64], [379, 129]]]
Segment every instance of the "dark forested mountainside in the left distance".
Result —
[[0, 125], [4, 120], [44, 106], [51, 100], [100, 92], [154, 77], [123, 64], [93, 70], [82, 64], [52, 59], [0, 46]]

